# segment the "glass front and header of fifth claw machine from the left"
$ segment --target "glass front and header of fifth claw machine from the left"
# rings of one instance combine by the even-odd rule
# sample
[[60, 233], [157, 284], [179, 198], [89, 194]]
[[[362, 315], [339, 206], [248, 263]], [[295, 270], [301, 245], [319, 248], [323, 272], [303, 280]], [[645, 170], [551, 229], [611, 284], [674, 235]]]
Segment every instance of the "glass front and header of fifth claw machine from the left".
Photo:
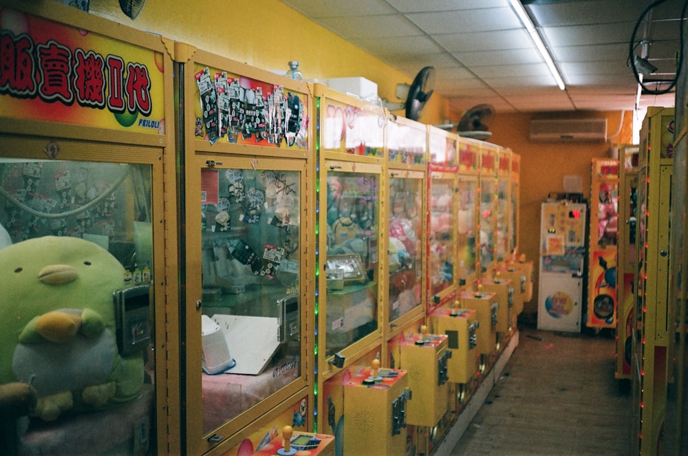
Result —
[[456, 294], [456, 137], [429, 128], [429, 220], [427, 260], [427, 314], [451, 305]]

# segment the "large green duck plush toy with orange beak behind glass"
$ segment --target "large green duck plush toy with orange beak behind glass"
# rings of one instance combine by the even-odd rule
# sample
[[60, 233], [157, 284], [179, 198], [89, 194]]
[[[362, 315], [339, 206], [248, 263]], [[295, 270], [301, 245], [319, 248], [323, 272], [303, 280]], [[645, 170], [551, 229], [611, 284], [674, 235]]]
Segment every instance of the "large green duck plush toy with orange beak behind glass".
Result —
[[116, 343], [112, 292], [124, 276], [107, 250], [74, 237], [0, 250], [0, 385], [29, 384], [34, 415], [51, 421], [138, 397], [143, 357], [120, 356]]

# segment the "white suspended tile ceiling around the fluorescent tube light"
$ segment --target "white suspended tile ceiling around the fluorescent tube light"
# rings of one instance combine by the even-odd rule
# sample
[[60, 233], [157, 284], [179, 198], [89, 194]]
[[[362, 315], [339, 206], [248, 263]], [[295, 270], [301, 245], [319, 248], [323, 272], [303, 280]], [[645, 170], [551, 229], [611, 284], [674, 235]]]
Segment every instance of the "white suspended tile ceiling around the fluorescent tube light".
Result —
[[[462, 113], [639, 111], [674, 106], [675, 94], [639, 94], [627, 64], [643, 0], [522, 0], [566, 88], [559, 89], [508, 0], [284, 0], [288, 6], [400, 69], [411, 83], [436, 69], [434, 89]], [[634, 54], [657, 71], [647, 89], [676, 73], [684, 0], [667, 0], [638, 26]], [[328, 75], [334, 77], [338, 75]], [[350, 76], [350, 75], [346, 75]]]

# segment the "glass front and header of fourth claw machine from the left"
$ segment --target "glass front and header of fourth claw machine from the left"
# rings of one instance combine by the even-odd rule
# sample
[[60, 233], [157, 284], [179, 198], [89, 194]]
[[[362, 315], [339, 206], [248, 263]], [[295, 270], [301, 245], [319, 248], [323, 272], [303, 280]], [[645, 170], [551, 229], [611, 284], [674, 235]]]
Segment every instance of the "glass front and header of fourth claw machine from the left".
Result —
[[[398, 118], [387, 124], [389, 244], [387, 321], [402, 326], [423, 314], [424, 194], [427, 127]], [[402, 318], [408, 316], [408, 318]]]

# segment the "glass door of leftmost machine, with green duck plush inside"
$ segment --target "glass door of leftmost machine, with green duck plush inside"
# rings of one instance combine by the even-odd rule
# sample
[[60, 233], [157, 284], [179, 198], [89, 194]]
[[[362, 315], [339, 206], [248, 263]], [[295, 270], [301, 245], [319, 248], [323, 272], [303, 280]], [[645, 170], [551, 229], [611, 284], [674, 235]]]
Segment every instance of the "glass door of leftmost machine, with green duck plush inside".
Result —
[[[37, 398], [17, 450], [147, 454], [156, 444], [156, 317], [164, 320], [155, 312], [164, 308], [163, 260], [153, 254], [153, 240], [162, 243], [160, 149], [8, 135], [0, 143], [0, 314], [15, 335], [0, 345], [1, 372]], [[100, 438], [69, 437], [80, 432]]]

